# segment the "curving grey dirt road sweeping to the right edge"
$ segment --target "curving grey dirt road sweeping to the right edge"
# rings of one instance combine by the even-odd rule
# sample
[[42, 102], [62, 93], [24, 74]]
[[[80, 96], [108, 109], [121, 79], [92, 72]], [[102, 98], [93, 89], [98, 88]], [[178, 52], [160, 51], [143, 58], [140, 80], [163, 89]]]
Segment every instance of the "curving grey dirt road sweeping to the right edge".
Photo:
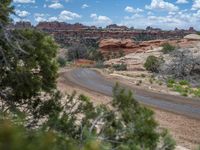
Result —
[[[95, 91], [107, 96], [112, 96], [112, 88], [116, 81], [106, 79], [96, 71], [91, 69], [73, 69], [69, 72], [61, 74], [68, 82]], [[123, 83], [123, 87], [133, 91], [135, 98], [148, 106], [156, 107], [162, 110], [171, 111], [188, 117], [200, 119], [200, 100], [190, 99], [181, 96], [172, 96], [161, 93], [130, 87]]]

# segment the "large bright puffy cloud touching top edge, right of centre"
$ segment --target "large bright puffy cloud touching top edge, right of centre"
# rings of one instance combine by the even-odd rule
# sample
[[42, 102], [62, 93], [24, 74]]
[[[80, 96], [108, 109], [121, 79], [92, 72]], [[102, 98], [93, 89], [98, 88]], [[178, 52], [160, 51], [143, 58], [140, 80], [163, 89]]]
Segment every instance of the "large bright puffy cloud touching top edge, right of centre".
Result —
[[179, 8], [172, 3], [164, 0], [152, 0], [150, 5], [145, 6], [150, 10], [162, 10], [162, 11], [177, 11]]

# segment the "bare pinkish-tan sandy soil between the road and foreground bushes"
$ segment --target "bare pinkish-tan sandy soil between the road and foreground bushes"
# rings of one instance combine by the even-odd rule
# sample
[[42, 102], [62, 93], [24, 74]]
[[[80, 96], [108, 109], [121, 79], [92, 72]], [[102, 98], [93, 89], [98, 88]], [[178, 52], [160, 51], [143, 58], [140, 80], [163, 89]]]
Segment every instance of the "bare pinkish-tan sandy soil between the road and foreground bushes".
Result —
[[[63, 78], [58, 79], [58, 88], [62, 92], [72, 93], [74, 90], [78, 94], [85, 94], [91, 98], [95, 105], [106, 104], [110, 97], [77, 88], [70, 83], [65, 83]], [[159, 122], [160, 127], [169, 129], [170, 133], [177, 141], [178, 150], [196, 149], [200, 145], [200, 120], [191, 119], [182, 115], [177, 115], [163, 110], [153, 109], [155, 119]]]

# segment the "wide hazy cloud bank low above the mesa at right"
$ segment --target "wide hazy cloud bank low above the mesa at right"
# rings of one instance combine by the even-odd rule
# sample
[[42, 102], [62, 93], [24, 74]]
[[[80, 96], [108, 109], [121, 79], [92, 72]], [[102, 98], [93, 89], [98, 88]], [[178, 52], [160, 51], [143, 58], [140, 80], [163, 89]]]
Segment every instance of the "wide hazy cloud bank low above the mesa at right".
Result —
[[134, 26], [135, 28], [146, 28], [146, 26], [152, 26], [162, 29], [188, 29], [194, 27], [200, 30], [200, 10], [192, 12], [189, 10], [180, 10], [178, 12], [168, 12], [167, 15], [158, 16], [151, 15], [141, 16], [135, 14], [131, 17], [124, 17], [124, 20], [120, 23], [126, 26]]

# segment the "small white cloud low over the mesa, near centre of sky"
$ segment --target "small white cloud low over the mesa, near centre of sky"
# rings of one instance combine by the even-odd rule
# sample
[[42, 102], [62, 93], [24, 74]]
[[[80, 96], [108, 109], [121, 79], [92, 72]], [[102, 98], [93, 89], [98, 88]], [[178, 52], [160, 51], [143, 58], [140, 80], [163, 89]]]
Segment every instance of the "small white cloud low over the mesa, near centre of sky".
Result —
[[98, 16], [97, 14], [91, 14], [90, 18], [93, 19], [93, 25], [105, 26], [108, 24], [112, 24], [112, 20], [107, 16]]

